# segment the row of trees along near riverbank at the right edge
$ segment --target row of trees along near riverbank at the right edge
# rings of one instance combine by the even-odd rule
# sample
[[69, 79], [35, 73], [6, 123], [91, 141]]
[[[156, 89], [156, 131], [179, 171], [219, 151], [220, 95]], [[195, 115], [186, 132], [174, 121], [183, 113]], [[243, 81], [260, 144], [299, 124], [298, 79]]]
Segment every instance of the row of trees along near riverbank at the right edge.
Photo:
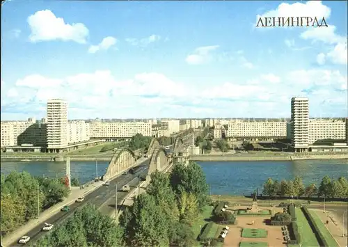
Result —
[[329, 176], [324, 176], [320, 182], [319, 188], [315, 183], [308, 186], [303, 184], [301, 177], [296, 176], [294, 180], [272, 180], [269, 178], [263, 186], [263, 193], [275, 196], [323, 196], [326, 198], [348, 198], [348, 182], [345, 177], [340, 177], [338, 180], [331, 179]]

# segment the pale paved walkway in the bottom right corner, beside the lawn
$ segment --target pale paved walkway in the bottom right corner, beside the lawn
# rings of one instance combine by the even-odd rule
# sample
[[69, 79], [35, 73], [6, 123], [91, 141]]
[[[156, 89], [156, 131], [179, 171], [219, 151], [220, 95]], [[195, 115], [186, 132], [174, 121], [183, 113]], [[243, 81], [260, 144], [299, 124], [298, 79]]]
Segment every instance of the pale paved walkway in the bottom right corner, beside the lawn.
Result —
[[[345, 237], [342, 237], [342, 233], [343, 233], [342, 219], [338, 219], [338, 217], [331, 212], [326, 211], [326, 214], [324, 214], [322, 209], [315, 209], [315, 212], [317, 213], [317, 216], [319, 216], [319, 218], [322, 220], [326, 228], [329, 230], [333, 238], [336, 240], [338, 245], [340, 247], [347, 246], [348, 245], [347, 228], [345, 228], [345, 234], [346, 234]], [[326, 221], [329, 221], [329, 224], [326, 224]], [[345, 219], [345, 221], [347, 221], [347, 219]]]

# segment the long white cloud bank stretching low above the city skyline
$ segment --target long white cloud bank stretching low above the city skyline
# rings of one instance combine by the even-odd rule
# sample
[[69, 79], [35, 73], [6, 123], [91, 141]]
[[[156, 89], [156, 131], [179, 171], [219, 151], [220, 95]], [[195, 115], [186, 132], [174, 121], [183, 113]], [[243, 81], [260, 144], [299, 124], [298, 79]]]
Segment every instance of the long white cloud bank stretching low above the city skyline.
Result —
[[[56, 79], [33, 74], [13, 86], [7, 81], [1, 85], [1, 109], [6, 109], [1, 116], [18, 111], [9, 110], [14, 106], [24, 107], [27, 116], [43, 107], [43, 116], [47, 99], [59, 97], [68, 100], [70, 118], [287, 117], [293, 96], [310, 97], [312, 113], [324, 107], [324, 99], [347, 97], [347, 75], [338, 70], [296, 70], [281, 78], [269, 72], [237, 83], [213, 79], [209, 84], [189, 86], [188, 82], [157, 72], [122, 80], [109, 70]], [[329, 103], [324, 105], [329, 107]]]

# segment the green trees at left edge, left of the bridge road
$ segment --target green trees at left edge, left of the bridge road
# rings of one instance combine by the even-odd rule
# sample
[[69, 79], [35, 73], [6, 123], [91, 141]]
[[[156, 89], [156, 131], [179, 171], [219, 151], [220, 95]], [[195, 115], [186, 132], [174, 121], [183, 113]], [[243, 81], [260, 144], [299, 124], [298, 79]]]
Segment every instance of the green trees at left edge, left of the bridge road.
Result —
[[1, 234], [6, 235], [61, 202], [69, 189], [61, 179], [33, 177], [25, 171], [1, 173]]

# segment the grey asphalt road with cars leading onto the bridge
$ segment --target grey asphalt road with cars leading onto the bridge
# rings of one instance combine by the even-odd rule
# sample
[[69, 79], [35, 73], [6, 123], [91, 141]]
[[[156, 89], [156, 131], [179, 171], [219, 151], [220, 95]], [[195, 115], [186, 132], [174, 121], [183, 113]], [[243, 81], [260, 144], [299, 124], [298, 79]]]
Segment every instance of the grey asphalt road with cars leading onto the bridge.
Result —
[[[110, 181], [110, 186], [101, 186], [100, 188], [96, 189], [95, 191], [89, 193], [87, 196], [85, 196], [83, 202], [74, 202], [72, 205], [70, 205], [70, 211], [69, 212], [58, 212], [54, 214], [52, 217], [48, 218], [45, 222], [54, 224], [54, 228], [57, 228], [59, 224], [63, 223], [67, 218], [74, 215], [74, 212], [77, 211], [77, 209], [81, 208], [84, 205], [95, 205], [98, 209], [105, 205], [104, 202], [108, 202], [113, 197], [113, 207], [109, 207], [108, 212], [110, 212], [112, 209], [115, 210], [115, 185], [117, 184], [118, 190], [122, 189], [122, 186], [125, 184], [129, 184], [130, 189], [133, 189], [134, 186], [139, 182], [139, 179], [136, 178], [139, 175], [147, 174], [148, 173], [148, 163], [149, 161], [143, 162], [143, 164], [139, 165], [142, 168], [137, 170], [137, 173], [135, 174], [127, 174], [127, 175], [120, 175], [119, 177], [116, 177], [114, 180]], [[137, 167], [139, 167], [137, 166]], [[132, 187], [133, 186], [133, 187]], [[122, 200], [127, 196], [127, 193], [125, 192], [118, 192], [118, 204], [122, 202]], [[26, 232], [24, 234], [25, 236], [31, 237], [29, 241], [30, 244], [35, 244], [38, 239], [40, 239], [42, 236], [49, 232], [42, 232], [42, 225], [38, 225], [29, 232]], [[10, 244], [10, 246], [20, 246], [20, 244], [17, 243], [17, 241]]]

